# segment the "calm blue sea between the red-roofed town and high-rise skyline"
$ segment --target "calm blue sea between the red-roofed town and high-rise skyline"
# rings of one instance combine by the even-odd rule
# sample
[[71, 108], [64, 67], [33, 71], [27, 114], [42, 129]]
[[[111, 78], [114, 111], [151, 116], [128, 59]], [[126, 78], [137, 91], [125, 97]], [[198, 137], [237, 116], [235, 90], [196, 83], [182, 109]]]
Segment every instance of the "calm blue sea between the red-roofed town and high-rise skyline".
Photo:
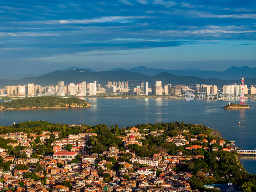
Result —
[[[256, 100], [245, 100], [251, 107], [246, 110], [220, 109], [229, 101], [218, 100], [185, 101], [170, 98], [86, 98], [85, 100], [91, 104], [91, 108], [0, 111], [0, 125], [11, 125], [14, 121], [19, 123], [45, 120], [63, 124], [108, 126], [118, 124], [121, 128], [148, 122], [153, 124], [184, 121], [193, 124], [202, 123], [216, 129], [226, 139], [235, 140], [239, 148], [250, 150], [256, 148]], [[240, 160], [249, 173], [256, 174], [256, 158], [242, 157]]]

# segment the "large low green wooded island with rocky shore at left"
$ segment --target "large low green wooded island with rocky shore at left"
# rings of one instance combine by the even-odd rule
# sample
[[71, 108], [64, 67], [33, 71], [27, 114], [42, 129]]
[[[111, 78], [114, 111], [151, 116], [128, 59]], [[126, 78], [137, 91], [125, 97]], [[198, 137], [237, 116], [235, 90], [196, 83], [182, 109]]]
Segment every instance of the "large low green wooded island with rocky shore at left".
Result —
[[78, 107], [91, 107], [91, 105], [75, 97], [63, 98], [53, 96], [26, 97], [11, 102], [0, 103], [0, 110]]

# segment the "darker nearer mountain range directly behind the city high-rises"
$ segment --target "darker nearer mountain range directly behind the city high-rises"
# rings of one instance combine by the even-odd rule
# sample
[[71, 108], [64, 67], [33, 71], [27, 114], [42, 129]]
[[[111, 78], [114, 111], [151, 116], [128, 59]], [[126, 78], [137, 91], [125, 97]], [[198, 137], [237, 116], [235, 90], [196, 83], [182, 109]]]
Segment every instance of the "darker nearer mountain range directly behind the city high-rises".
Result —
[[[240, 77], [240, 76], [239, 76]], [[92, 72], [83, 69], [68, 70], [68, 71], [54, 71], [49, 74], [45, 74], [40, 77], [26, 77], [20, 80], [0, 80], [0, 87], [4, 88], [5, 85], [26, 85], [33, 83], [34, 85], [48, 86], [56, 85], [58, 81], [65, 81], [65, 84], [70, 83], [78, 84], [79, 82], [86, 81], [87, 84], [93, 81], [97, 81], [97, 84], [105, 85], [108, 81], [128, 81], [129, 84], [138, 85], [142, 81], [148, 81], [149, 86], [155, 85], [157, 80], [162, 81], [164, 84], [181, 84], [195, 86], [196, 83], [204, 83], [206, 85], [217, 85], [219, 88], [228, 84], [241, 84], [240, 79], [236, 80], [220, 80], [220, 79], [203, 79], [195, 76], [177, 76], [167, 72], [162, 72], [154, 76], [143, 75], [136, 72], [130, 72], [125, 70], [120, 71], [101, 71]], [[245, 78], [244, 84], [250, 86], [256, 84], [256, 79]]]

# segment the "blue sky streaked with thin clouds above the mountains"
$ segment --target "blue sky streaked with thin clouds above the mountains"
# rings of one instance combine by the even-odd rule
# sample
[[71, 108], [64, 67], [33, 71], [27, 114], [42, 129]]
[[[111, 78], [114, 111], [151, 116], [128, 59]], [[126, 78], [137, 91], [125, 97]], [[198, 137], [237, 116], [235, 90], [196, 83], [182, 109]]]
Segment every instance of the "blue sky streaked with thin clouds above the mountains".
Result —
[[256, 67], [255, 9], [255, 0], [3, 1], [0, 76]]

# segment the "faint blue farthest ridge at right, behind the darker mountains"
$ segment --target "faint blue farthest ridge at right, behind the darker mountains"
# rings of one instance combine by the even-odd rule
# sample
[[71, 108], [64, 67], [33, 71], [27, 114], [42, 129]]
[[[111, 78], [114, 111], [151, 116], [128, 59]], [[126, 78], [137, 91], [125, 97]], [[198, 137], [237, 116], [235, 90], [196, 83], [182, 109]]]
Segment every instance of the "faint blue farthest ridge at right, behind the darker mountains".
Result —
[[214, 79], [224, 79], [224, 80], [232, 80], [236, 78], [246, 77], [246, 78], [256, 78], [256, 67], [250, 68], [247, 66], [243, 67], [231, 67], [226, 69], [225, 71], [203, 71], [198, 69], [182, 69], [182, 70], [165, 70], [165, 69], [154, 69], [154, 68], [147, 68], [145, 66], [139, 66], [131, 69], [123, 69], [123, 68], [115, 68], [111, 71], [120, 71], [126, 70], [130, 72], [137, 72], [143, 75], [157, 75], [162, 72], [168, 72], [174, 75], [183, 75], [183, 76], [196, 76], [203, 79], [207, 78], [214, 78]]

